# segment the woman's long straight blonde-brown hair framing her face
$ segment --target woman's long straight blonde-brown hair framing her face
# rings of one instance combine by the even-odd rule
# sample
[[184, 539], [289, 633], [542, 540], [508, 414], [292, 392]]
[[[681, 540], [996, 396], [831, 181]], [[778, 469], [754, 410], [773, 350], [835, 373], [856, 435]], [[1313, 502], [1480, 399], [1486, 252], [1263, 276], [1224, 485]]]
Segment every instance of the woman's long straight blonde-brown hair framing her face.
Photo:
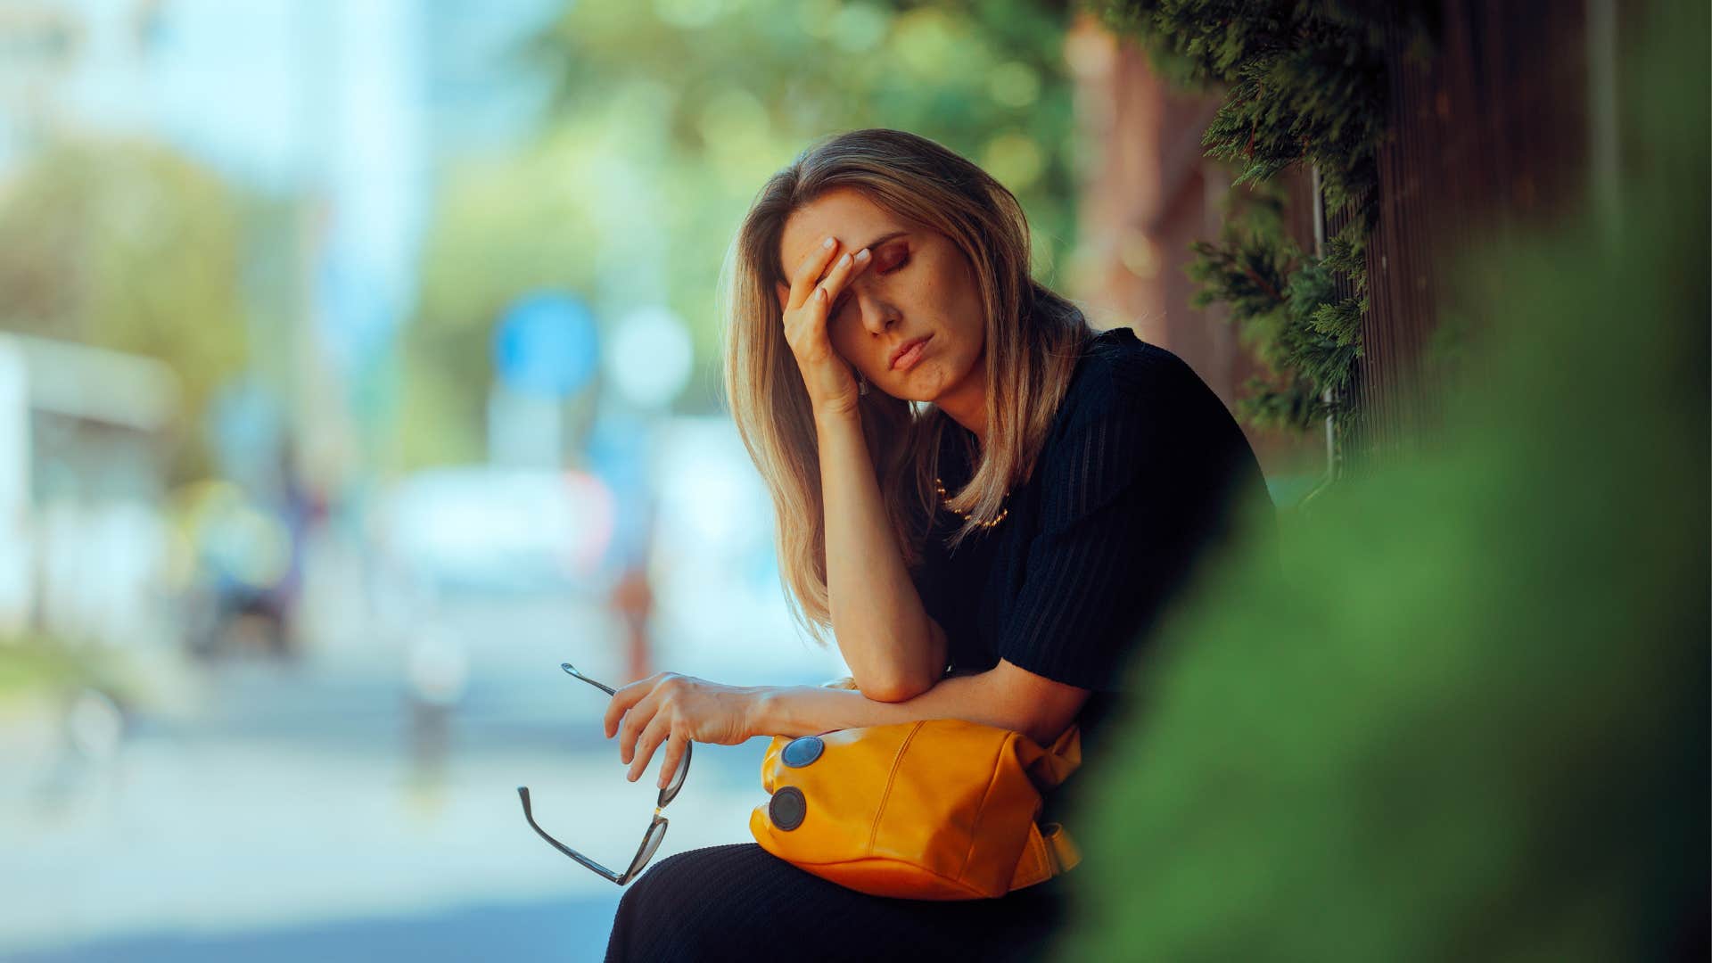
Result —
[[[743, 444], [772, 492], [793, 615], [818, 641], [832, 620], [820, 456], [774, 284], [789, 278], [779, 255], [786, 221], [834, 188], [856, 190], [906, 223], [945, 235], [974, 269], [986, 314], [986, 442], [969, 483], [947, 492], [945, 504], [967, 519], [948, 547], [995, 517], [1010, 488], [1029, 478], [1092, 334], [1075, 305], [1029, 274], [1029, 224], [1015, 195], [926, 137], [882, 129], [839, 134], [762, 185], [721, 271], [724, 387]], [[859, 415], [899, 552], [916, 567], [938, 500], [933, 478], [950, 416], [931, 404], [918, 411], [882, 391], [861, 398]]]

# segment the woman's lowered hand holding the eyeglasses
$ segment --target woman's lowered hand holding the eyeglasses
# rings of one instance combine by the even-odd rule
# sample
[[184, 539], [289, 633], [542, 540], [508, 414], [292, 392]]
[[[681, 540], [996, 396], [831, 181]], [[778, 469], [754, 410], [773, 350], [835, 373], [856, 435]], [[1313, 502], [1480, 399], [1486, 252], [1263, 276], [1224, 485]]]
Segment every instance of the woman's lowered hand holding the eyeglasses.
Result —
[[664, 787], [683, 763], [690, 742], [736, 745], [750, 735], [753, 687], [719, 685], [690, 675], [656, 672], [620, 689], [606, 706], [606, 739], [618, 735], [618, 759], [630, 763], [628, 780], [637, 781], [659, 745]]

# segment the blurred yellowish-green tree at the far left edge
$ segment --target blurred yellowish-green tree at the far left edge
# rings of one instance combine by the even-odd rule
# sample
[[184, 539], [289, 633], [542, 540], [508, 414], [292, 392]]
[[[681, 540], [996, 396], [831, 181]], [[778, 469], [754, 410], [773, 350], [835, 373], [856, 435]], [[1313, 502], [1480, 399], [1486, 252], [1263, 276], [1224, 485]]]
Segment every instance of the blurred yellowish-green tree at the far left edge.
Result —
[[241, 233], [241, 199], [166, 147], [58, 144], [0, 187], [0, 329], [169, 365], [175, 475], [197, 475], [202, 413], [247, 356]]

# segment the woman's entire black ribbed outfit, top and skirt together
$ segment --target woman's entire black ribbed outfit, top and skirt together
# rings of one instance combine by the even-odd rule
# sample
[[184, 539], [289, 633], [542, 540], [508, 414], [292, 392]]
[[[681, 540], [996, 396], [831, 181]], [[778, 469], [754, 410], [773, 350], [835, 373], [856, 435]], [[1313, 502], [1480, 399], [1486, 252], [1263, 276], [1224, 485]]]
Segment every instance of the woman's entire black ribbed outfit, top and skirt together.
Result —
[[[962, 485], [969, 439], [947, 435], [942, 478]], [[930, 543], [912, 576], [954, 667], [1007, 658], [1094, 691], [1080, 716], [1084, 775], [1099, 766], [1097, 733], [1145, 627], [1224, 528], [1231, 499], [1265, 499], [1265, 485], [1219, 398], [1128, 329], [1087, 343], [1039, 458], [1003, 523], [955, 553]], [[955, 524], [942, 511], [935, 533]], [[1049, 795], [1043, 819], [1068, 800]], [[1085, 862], [1101, 858], [1097, 840], [1077, 841]], [[844, 889], [753, 843], [692, 850], [630, 884], [606, 960], [1032, 960], [1067, 918], [1077, 872], [942, 903]]]

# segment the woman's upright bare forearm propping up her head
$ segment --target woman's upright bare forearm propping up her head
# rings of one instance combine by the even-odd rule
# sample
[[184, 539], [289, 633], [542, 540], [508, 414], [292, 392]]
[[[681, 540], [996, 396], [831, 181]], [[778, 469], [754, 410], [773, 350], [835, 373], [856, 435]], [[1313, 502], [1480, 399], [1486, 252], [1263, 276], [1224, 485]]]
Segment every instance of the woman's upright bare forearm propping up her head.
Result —
[[859, 415], [817, 415], [825, 502], [832, 632], [856, 685], [871, 699], [928, 691], [945, 668], [897, 535], [885, 512]]

